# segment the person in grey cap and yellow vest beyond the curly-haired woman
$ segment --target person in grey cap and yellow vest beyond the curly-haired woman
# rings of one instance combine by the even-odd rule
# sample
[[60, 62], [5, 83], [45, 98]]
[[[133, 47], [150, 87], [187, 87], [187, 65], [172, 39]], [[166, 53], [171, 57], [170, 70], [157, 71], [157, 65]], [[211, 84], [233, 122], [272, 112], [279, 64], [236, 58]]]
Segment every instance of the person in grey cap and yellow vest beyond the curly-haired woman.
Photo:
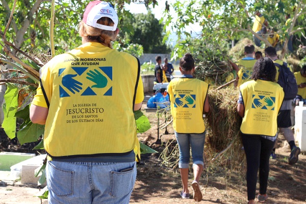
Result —
[[[255, 47], [252, 44], [247, 44], [244, 47], [245, 58], [238, 60], [237, 65], [230, 61], [233, 68], [237, 72], [237, 87], [251, 79], [253, 66], [256, 63], [256, 59], [253, 58]], [[239, 66], [240, 65], [240, 66]]]

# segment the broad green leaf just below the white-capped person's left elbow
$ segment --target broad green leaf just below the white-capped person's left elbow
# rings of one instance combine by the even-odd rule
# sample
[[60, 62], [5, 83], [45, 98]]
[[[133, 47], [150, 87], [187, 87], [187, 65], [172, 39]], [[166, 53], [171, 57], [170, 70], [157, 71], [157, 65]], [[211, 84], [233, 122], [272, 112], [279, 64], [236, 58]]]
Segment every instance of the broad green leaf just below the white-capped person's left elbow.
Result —
[[17, 138], [22, 145], [27, 142], [36, 142], [43, 133], [44, 125], [29, 122], [18, 131]]

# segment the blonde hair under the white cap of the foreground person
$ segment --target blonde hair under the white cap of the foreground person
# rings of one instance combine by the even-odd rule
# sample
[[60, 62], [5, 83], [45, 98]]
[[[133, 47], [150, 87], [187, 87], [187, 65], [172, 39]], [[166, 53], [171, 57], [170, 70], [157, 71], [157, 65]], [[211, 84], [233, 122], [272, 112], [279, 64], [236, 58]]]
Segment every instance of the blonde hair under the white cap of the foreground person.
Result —
[[[100, 18], [97, 23], [113, 26], [114, 22], [108, 17]], [[82, 38], [85, 38], [88, 42], [99, 42], [105, 46], [113, 48], [111, 41], [116, 40], [116, 31], [106, 31], [91, 27], [83, 22], [80, 23], [79, 34]]]

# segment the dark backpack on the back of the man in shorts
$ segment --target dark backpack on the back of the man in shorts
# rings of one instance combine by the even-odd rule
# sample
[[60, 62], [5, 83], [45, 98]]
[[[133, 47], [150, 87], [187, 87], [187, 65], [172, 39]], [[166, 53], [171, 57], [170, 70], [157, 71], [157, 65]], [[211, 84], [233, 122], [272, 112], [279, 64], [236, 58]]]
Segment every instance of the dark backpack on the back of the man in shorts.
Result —
[[277, 63], [274, 63], [274, 65], [279, 68], [277, 84], [283, 87], [285, 92], [284, 100], [291, 100], [295, 98], [297, 94], [297, 84], [294, 74], [290, 71], [286, 62], [284, 62], [283, 65]]

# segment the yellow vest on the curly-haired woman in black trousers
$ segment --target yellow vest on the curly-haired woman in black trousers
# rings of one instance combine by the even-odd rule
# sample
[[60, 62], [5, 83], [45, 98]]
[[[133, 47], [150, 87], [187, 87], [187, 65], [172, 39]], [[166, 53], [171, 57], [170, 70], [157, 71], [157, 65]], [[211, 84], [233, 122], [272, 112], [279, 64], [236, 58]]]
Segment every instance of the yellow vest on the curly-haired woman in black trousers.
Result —
[[243, 134], [275, 136], [277, 114], [282, 106], [284, 91], [277, 83], [251, 80], [240, 86], [244, 103]]

